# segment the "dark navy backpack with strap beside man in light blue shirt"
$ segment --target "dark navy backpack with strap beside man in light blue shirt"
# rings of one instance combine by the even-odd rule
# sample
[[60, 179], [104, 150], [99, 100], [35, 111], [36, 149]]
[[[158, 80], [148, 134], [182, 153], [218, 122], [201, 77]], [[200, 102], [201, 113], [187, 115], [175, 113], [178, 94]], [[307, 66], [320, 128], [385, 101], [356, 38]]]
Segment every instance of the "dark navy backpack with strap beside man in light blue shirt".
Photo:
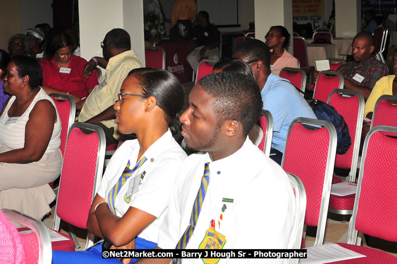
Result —
[[[293, 84], [291, 85], [295, 87], [299, 92], [305, 94], [301, 89], [297, 88]], [[312, 110], [318, 120], [329, 121], [332, 125], [334, 125], [337, 137], [336, 153], [345, 154], [348, 151], [349, 147], [352, 145], [352, 138], [350, 137], [349, 129], [347, 127], [345, 119], [343, 119], [343, 116], [341, 116], [335, 110], [335, 108], [320, 100], [315, 99], [310, 102], [309, 105], [310, 107], [312, 107]]]

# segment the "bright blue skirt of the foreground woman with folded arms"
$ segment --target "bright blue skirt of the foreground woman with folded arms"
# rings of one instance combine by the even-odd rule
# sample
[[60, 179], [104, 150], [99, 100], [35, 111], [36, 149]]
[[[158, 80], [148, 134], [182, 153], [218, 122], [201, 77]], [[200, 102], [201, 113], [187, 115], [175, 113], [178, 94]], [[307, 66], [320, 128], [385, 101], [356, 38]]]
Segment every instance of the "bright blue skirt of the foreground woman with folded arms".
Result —
[[[136, 249], [154, 249], [157, 243], [147, 241], [142, 238], [135, 238]], [[132, 259], [130, 263], [135, 263], [139, 259]], [[117, 263], [120, 264], [119, 259], [102, 259], [102, 243], [95, 245], [87, 251], [52, 251], [53, 264], [67, 264], [67, 263]]]

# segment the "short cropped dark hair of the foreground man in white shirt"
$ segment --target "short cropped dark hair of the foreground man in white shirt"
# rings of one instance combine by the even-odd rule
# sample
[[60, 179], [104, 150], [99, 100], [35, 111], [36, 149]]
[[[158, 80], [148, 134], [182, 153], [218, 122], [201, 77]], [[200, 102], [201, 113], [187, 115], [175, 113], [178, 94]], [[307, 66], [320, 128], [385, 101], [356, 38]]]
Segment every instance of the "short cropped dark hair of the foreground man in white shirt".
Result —
[[236, 120], [247, 136], [258, 121], [263, 106], [255, 80], [237, 72], [221, 72], [201, 78], [199, 85], [215, 97], [212, 107], [218, 126], [226, 120]]

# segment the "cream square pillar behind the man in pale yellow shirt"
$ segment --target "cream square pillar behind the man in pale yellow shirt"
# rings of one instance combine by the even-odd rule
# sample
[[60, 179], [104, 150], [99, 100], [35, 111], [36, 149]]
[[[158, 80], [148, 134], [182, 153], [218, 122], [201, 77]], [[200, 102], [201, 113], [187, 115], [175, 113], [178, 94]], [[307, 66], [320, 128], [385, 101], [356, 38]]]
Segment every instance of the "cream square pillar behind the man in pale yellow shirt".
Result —
[[79, 1], [81, 57], [102, 56], [100, 43], [114, 28], [125, 29], [142, 65], [145, 65], [142, 0]]

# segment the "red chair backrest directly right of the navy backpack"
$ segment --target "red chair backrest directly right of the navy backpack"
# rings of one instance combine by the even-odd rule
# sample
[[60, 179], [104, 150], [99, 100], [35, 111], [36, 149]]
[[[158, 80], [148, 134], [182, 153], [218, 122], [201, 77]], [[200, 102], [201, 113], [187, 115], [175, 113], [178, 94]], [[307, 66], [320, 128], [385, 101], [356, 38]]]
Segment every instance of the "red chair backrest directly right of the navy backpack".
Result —
[[327, 103], [342, 115], [352, 139], [352, 145], [345, 154], [336, 154], [335, 167], [350, 169], [348, 181], [355, 181], [362, 117], [364, 116], [364, 96], [358, 91], [336, 89], [329, 95]]

